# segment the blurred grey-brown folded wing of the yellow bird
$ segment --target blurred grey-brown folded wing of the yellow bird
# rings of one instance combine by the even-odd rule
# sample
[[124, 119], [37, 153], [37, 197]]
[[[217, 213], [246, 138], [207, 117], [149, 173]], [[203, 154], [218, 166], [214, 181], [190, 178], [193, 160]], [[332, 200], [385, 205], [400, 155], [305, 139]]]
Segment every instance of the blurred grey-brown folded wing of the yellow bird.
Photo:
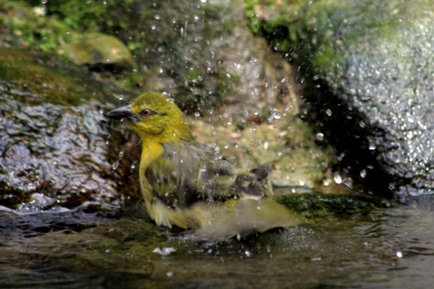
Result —
[[268, 173], [267, 166], [242, 170], [194, 143], [180, 141], [177, 146], [164, 144], [164, 154], [150, 163], [146, 179], [166, 203], [184, 207], [199, 199], [260, 198]]

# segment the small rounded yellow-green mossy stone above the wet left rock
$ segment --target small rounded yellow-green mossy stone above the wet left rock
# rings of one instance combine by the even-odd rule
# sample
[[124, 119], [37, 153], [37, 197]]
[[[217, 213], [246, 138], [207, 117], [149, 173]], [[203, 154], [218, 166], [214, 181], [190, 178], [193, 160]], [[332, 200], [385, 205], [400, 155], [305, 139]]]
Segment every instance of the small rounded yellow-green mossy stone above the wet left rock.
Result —
[[59, 53], [98, 70], [131, 70], [135, 65], [131, 53], [119, 39], [99, 32], [73, 35]]

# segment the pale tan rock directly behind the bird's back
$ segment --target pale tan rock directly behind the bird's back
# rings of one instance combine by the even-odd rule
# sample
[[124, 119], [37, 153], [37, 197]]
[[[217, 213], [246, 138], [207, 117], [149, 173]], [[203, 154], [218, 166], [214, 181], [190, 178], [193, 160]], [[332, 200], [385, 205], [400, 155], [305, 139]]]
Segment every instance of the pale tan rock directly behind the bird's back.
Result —
[[312, 189], [323, 180], [332, 152], [316, 144], [307, 124], [291, 113], [280, 116], [261, 124], [245, 122], [241, 129], [242, 122], [214, 128], [196, 119], [189, 122], [197, 142], [217, 155], [250, 169], [272, 165], [273, 186]]

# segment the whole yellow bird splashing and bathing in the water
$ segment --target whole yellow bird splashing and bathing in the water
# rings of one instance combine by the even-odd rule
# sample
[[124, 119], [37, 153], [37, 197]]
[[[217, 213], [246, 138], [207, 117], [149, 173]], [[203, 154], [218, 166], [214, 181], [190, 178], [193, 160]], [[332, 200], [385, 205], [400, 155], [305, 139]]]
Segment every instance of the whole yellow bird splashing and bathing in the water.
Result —
[[269, 165], [247, 170], [207, 150], [162, 93], [145, 92], [106, 117], [141, 139], [140, 189], [156, 225], [195, 229], [191, 236], [201, 239], [228, 239], [298, 223], [270, 198]]

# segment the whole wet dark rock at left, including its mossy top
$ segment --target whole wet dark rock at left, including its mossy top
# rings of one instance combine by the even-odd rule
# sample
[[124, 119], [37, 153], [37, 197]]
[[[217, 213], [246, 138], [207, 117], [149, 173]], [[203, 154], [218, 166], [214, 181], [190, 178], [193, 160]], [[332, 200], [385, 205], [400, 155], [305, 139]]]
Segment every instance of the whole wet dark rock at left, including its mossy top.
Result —
[[26, 51], [3, 49], [0, 63], [0, 205], [117, 205], [102, 115], [114, 91]]

